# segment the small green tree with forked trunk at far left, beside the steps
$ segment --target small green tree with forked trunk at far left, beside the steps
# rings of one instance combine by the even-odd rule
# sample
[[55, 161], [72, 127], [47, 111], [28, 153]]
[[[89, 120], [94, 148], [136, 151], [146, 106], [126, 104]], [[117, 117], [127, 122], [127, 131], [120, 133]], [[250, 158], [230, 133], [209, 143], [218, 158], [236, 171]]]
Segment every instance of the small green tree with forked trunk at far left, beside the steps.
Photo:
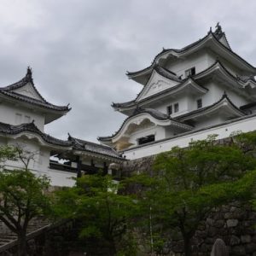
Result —
[[32, 218], [48, 213], [47, 177], [32, 172], [0, 172], [0, 220], [18, 236], [18, 255], [26, 255], [26, 230]]

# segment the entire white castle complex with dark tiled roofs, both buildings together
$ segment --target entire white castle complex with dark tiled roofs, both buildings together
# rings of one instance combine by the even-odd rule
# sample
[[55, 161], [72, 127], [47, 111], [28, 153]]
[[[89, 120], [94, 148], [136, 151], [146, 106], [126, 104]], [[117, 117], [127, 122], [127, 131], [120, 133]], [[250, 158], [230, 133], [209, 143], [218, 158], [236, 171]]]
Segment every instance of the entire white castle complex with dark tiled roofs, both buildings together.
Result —
[[[108, 173], [112, 164], [186, 147], [212, 134], [221, 139], [255, 130], [255, 75], [256, 68], [232, 51], [218, 24], [195, 43], [163, 49], [149, 67], [127, 73], [142, 90], [133, 101], [113, 103], [127, 117], [112, 136], [98, 137], [102, 144], [97, 144], [44, 133], [44, 125], [71, 108], [47, 102], [28, 68], [23, 79], [0, 88], [0, 144], [32, 152], [32, 172], [46, 174], [52, 185], [72, 186], [68, 177]], [[20, 161], [5, 163], [5, 168], [20, 167]]]

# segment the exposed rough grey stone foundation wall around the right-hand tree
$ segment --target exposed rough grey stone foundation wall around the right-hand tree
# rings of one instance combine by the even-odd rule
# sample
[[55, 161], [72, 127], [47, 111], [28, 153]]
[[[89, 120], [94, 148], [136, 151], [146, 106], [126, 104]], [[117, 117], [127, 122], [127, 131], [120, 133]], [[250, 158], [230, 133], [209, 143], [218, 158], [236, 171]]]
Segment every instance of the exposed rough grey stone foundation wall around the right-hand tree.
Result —
[[[122, 166], [123, 176], [138, 172], [152, 172], [154, 156], [131, 160]], [[229, 248], [230, 255], [256, 256], [256, 212], [251, 206], [230, 202], [230, 205], [212, 210], [201, 223], [192, 241], [193, 255], [209, 256], [217, 238]], [[172, 241], [172, 253], [183, 255], [183, 241]]]

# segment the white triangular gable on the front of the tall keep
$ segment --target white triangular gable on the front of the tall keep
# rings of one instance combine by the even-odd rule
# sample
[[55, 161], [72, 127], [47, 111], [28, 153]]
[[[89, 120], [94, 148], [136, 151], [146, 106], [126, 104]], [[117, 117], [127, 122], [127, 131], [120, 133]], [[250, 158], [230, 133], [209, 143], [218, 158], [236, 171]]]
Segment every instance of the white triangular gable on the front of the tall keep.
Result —
[[143, 88], [140, 96], [137, 97], [137, 102], [149, 97], [153, 96], [154, 94], [172, 88], [173, 86], [179, 84], [177, 81], [173, 81], [171, 79], [166, 79], [165, 77], [161, 76], [157, 72], [153, 72], [148, 83]]

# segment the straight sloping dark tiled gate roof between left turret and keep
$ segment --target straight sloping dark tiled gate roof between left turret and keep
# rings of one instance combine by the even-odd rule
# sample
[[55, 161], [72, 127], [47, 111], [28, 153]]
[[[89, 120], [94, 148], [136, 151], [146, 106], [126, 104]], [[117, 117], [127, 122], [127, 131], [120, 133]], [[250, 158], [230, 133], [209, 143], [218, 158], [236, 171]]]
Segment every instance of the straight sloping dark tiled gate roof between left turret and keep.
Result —
[[116, 152], [113, 148], [108, 147], [106, 145], [90, 143], [88, 141], [71, 137], [70, 134], [68, 134], [68, 141], [72, 143], [73, 149], [86, 151], [94, 154], [102, 154], [102, 155], [112, 157], [112, 158], [117, 158], [120, 160], [122, 159], [122, 157], [118, 152]]

